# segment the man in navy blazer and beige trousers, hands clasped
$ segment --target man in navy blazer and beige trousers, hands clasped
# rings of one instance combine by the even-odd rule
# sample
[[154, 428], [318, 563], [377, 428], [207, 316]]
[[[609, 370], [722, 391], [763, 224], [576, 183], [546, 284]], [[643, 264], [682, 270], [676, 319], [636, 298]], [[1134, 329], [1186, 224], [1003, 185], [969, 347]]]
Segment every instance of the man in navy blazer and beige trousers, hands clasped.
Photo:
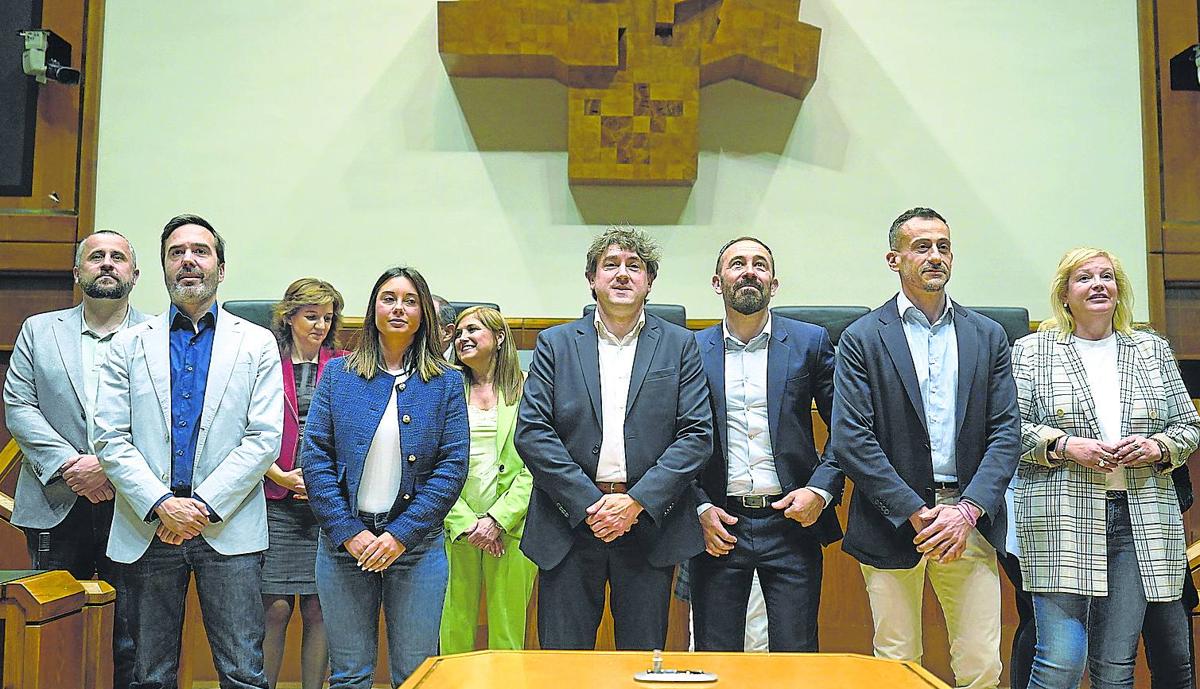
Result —
[[900, 293], [838, 343], [830, 443], [854, 481], [842, 550], [862, 564], [875, 654], [919, 661], [929, 575], [955, 684], [1000, 682], [1004, 487], [1020, 453], [1016, 385], [1000, 324], [946, 294], [950, 230], [901, 214], [888, 235]]

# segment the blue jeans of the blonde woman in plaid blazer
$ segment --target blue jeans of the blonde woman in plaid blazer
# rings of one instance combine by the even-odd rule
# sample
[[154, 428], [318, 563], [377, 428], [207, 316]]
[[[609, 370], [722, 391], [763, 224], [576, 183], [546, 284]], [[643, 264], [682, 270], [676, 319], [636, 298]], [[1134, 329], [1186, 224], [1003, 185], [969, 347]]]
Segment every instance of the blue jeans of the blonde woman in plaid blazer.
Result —
[[1085, 664], [1092, 689], [1133, 687], [1146, 593], [1124, 498], [1108, 501], [1108, 595], [1033, 593], [1038, 642], [1030, 689], [1075, 689]]

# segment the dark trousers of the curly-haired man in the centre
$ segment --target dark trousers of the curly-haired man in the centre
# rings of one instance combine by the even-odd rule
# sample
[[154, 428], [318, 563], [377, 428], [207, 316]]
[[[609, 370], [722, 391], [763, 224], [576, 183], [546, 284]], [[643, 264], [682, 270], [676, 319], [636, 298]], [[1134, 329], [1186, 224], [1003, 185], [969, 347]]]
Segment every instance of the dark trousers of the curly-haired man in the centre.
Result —
[[674, 565], [654, 567], [646, 559], [640, 534], [650, 528], [636, 523], [612, 543], [594, 537], [586, 525], [576, 529], [575, 544], [563, 562], [540, 571], [538, 637], [542, 648], [595, 648], [605, 585], [610, 587], [617, 649], [662, 648]]

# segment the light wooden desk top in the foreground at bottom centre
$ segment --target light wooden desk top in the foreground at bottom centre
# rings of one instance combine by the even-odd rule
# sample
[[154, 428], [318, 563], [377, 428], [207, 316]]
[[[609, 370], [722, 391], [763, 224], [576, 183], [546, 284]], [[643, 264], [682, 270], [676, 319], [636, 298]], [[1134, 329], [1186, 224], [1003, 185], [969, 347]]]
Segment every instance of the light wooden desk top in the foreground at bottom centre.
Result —
[[851, 653], [664, 653], [662, 666], [715, 672], [716, 682], [635, 682], [650, 667], [650, 654], [616, 651], [479, 651], [430, 658], [401, 687], [407, 689], [617, 689], [620, 687], [857, 687], [948, 689], [916, 663]]

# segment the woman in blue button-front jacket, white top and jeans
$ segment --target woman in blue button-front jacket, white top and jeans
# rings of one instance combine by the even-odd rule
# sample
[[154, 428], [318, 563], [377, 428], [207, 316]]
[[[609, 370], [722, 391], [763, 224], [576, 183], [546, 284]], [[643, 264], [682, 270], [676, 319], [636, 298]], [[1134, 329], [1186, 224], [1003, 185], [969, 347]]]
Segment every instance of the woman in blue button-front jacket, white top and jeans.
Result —
[[326, 365], [308, 409], [302, 465], [322, 527], [330, 689], [371, 687], [380, 606], [394, 685], [438, 651], [442, 525], [467, 477], [469, 433], [463, 378], [437, 331], [421, 274], [386, 270], [361, 341]]

